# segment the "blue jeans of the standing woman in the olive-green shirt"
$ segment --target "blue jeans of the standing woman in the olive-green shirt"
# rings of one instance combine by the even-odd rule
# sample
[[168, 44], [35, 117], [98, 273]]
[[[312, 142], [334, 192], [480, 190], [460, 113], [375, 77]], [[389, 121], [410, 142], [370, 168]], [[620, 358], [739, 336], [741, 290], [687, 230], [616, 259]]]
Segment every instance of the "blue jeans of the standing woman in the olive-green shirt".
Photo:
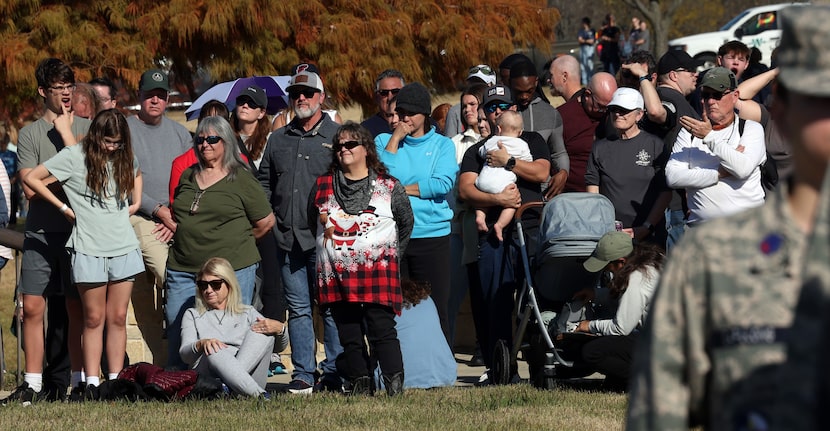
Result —
[[[254, 282], [259, 262], [234, 271], [239, 282], [242, 303], [251, 304], [254, 296]], [[167, 366], [179, 370], [187, 369], [187, 364], [179, 356], [182, 344], [182, 316], [196, 304], [196, 274], [167, 268], [167, 305], [164, 317], [167, 319]]]

